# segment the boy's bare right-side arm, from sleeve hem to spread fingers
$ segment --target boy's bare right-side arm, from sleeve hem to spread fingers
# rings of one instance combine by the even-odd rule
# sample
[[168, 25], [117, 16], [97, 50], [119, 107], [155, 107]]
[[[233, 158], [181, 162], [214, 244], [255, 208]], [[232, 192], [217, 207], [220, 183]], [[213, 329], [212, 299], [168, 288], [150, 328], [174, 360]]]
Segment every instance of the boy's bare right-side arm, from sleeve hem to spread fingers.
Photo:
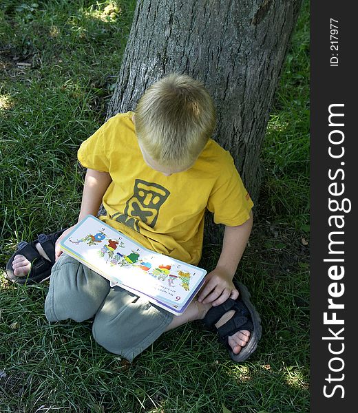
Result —
[[239, 292], [233, 284], [233, 277], [249, 240], [252, 226], [252, 211], [249, 220], [244, 224], [225, 226], [218, 264], [205, 277], [205, 284], [198, 295], [198, 301], [218, 306], [228, 298], [238, 298]]

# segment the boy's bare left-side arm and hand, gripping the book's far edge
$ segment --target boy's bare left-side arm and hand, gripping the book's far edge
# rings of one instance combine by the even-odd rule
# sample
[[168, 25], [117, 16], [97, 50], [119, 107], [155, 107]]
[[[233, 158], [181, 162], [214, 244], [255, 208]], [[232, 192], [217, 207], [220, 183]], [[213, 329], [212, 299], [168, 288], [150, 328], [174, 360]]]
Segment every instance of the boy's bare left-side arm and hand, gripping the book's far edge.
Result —
[[[87, 169], [85, 184], [83, 186], [81, 210], [78, 215], [78, 222], [91, 214], [96, 216], [101, 207], [103, 195], [112, 182], [112, 178], [107, 172], [100, 172], [94, 169]], [[62, 251], [59, 248], [59, 242], [72, 230], [73, 226], [67, 229], [56, 241], [55, 260], [59, 258]]]

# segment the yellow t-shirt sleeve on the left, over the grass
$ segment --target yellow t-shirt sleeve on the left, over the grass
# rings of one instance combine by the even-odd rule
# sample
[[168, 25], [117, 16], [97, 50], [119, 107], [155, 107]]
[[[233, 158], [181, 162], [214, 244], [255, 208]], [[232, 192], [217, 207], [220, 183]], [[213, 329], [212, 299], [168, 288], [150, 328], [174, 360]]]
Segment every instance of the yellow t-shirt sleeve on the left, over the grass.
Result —
[[107, 136], [109, 123], [110, 120], [81, 143], [77, 151], [77, 158], [83, 167], [101, 172], [109, 172], [110, 154], [109, 145], [108, 142], [106, 142], [107, 138], [109, 138], [109, 136]]

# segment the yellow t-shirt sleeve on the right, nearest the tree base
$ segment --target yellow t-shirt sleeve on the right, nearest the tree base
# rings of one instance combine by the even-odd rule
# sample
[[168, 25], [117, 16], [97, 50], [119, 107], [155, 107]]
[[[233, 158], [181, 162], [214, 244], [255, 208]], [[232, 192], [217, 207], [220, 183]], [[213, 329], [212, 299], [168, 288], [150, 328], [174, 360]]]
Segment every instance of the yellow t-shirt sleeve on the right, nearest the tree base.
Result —
[[220, 176], [209, 196], [207, 209], [213, 213], [215, 224], [242, 225], [249, 220], [253, 201], [246, 191], [233, 158], [226, 152]]

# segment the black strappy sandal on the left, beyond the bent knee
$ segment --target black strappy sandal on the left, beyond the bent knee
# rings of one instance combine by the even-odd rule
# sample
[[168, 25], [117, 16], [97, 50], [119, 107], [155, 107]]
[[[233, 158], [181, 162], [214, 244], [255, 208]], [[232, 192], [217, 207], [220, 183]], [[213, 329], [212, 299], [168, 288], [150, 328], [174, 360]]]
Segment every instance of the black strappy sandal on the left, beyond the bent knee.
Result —
[[[36, 241], [26, 242], [21, 241], [17, 246], [17, 251], [11, 256], [10, 260], [6, 264], [6, 277], [10, 281], [17, 284], [36, 284], [39, 282], [44, 282], [50, 278], [51, 269], [55, 262], [55, 244], [59, 239], [60, 235], [66, 229], [62, 229], [56, 233], [50, 235], [40, 234]], [[39, 242], [41, 244], [43, 251], [48, 255], [50, 261], [45, 260], [39, 254], [39, 251], [36, 249], [36, 244]], [[17, 277], [14, 275], [14, 270], [12, 269], [12, 262], [14, 257], [17, 255], [23, 255], [31, 262], [31, 268], [28, 275], [23, 275]]]

